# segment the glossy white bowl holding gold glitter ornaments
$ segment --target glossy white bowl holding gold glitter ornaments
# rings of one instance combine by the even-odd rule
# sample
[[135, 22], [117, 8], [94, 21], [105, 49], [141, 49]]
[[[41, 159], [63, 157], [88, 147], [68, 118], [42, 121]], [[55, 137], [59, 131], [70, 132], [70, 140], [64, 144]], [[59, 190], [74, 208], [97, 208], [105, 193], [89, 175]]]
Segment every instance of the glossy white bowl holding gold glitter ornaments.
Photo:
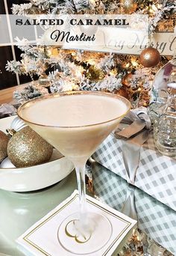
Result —
[[[0, 129], [5, 132], [16, 117], [0, 119]], [[0, 168], [0, 189], [13, 192], [29, 192], [44, 189], [63, 180], [74, 169], [66, 157], [25, 168]]]

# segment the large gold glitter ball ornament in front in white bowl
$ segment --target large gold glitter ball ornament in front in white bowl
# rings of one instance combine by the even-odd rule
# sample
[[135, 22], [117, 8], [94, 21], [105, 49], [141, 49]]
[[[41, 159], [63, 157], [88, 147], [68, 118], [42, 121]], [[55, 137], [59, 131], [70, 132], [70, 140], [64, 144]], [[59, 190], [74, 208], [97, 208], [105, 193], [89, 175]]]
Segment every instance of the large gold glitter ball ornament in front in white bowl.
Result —
[[16, 132], [7, 145], [7, 155], [18, 168], [39, 165], [51, 158], [53, 147], [37, 132], [25, 127]]

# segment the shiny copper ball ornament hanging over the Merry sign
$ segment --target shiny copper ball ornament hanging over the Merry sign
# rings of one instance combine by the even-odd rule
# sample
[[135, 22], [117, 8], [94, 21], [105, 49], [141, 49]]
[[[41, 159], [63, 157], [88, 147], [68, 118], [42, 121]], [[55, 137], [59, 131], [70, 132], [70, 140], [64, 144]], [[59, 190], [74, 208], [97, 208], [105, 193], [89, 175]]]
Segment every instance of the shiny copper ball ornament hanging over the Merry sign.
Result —
[[160, 52], [153, 47], [148, 47], [141, 52], [139, 62], [144, 67], [155, 67], [160, 62]]

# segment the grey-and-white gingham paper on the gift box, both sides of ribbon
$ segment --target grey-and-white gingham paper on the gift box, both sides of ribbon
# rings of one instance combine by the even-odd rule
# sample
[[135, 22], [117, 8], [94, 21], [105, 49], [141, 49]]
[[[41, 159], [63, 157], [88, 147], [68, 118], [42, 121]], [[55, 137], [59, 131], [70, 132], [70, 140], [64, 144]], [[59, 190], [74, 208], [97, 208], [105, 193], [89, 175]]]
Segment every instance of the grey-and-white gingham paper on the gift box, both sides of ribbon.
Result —
[[[128, 180], [122, 157], [123, 141], [110, 134], [92, 158]], [[152, 135], [141, 147], [135, 186], [176, 210], [176, 160], [157, 152]]]

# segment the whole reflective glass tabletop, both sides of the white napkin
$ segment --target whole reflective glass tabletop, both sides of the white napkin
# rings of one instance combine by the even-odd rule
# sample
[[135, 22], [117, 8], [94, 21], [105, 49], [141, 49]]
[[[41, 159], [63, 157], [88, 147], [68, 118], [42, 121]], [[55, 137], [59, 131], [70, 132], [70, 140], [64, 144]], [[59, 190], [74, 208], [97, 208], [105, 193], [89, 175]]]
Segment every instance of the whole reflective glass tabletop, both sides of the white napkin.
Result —
[[[120, 256], [147, 256], [149, 255], [147, 251], [151, 252], [154, 246], [157, 246], [157, 249], [151, 252], [151, 256], [176, 255], [174, 210], [142, 190], [128, 185], [121, 177], [98, 163], [92, 165], [92, 181], [95, 197], [116, 210], [138, 219], [138, 227], [141, 231], [133, 234], [131, 240], [119, 252]], [[75, 171], [73, 171], [60, 183], [36, 192], [16, 193], [0, 189], [0, 255], [25, 255], [19, 249], [16, 239], [71, 195], [77, 188], [76, 184]], [[142, 237], [142, 244], [138, 241], [139, 237]], [[172, 254], [166, 252], [162, 246]]]

